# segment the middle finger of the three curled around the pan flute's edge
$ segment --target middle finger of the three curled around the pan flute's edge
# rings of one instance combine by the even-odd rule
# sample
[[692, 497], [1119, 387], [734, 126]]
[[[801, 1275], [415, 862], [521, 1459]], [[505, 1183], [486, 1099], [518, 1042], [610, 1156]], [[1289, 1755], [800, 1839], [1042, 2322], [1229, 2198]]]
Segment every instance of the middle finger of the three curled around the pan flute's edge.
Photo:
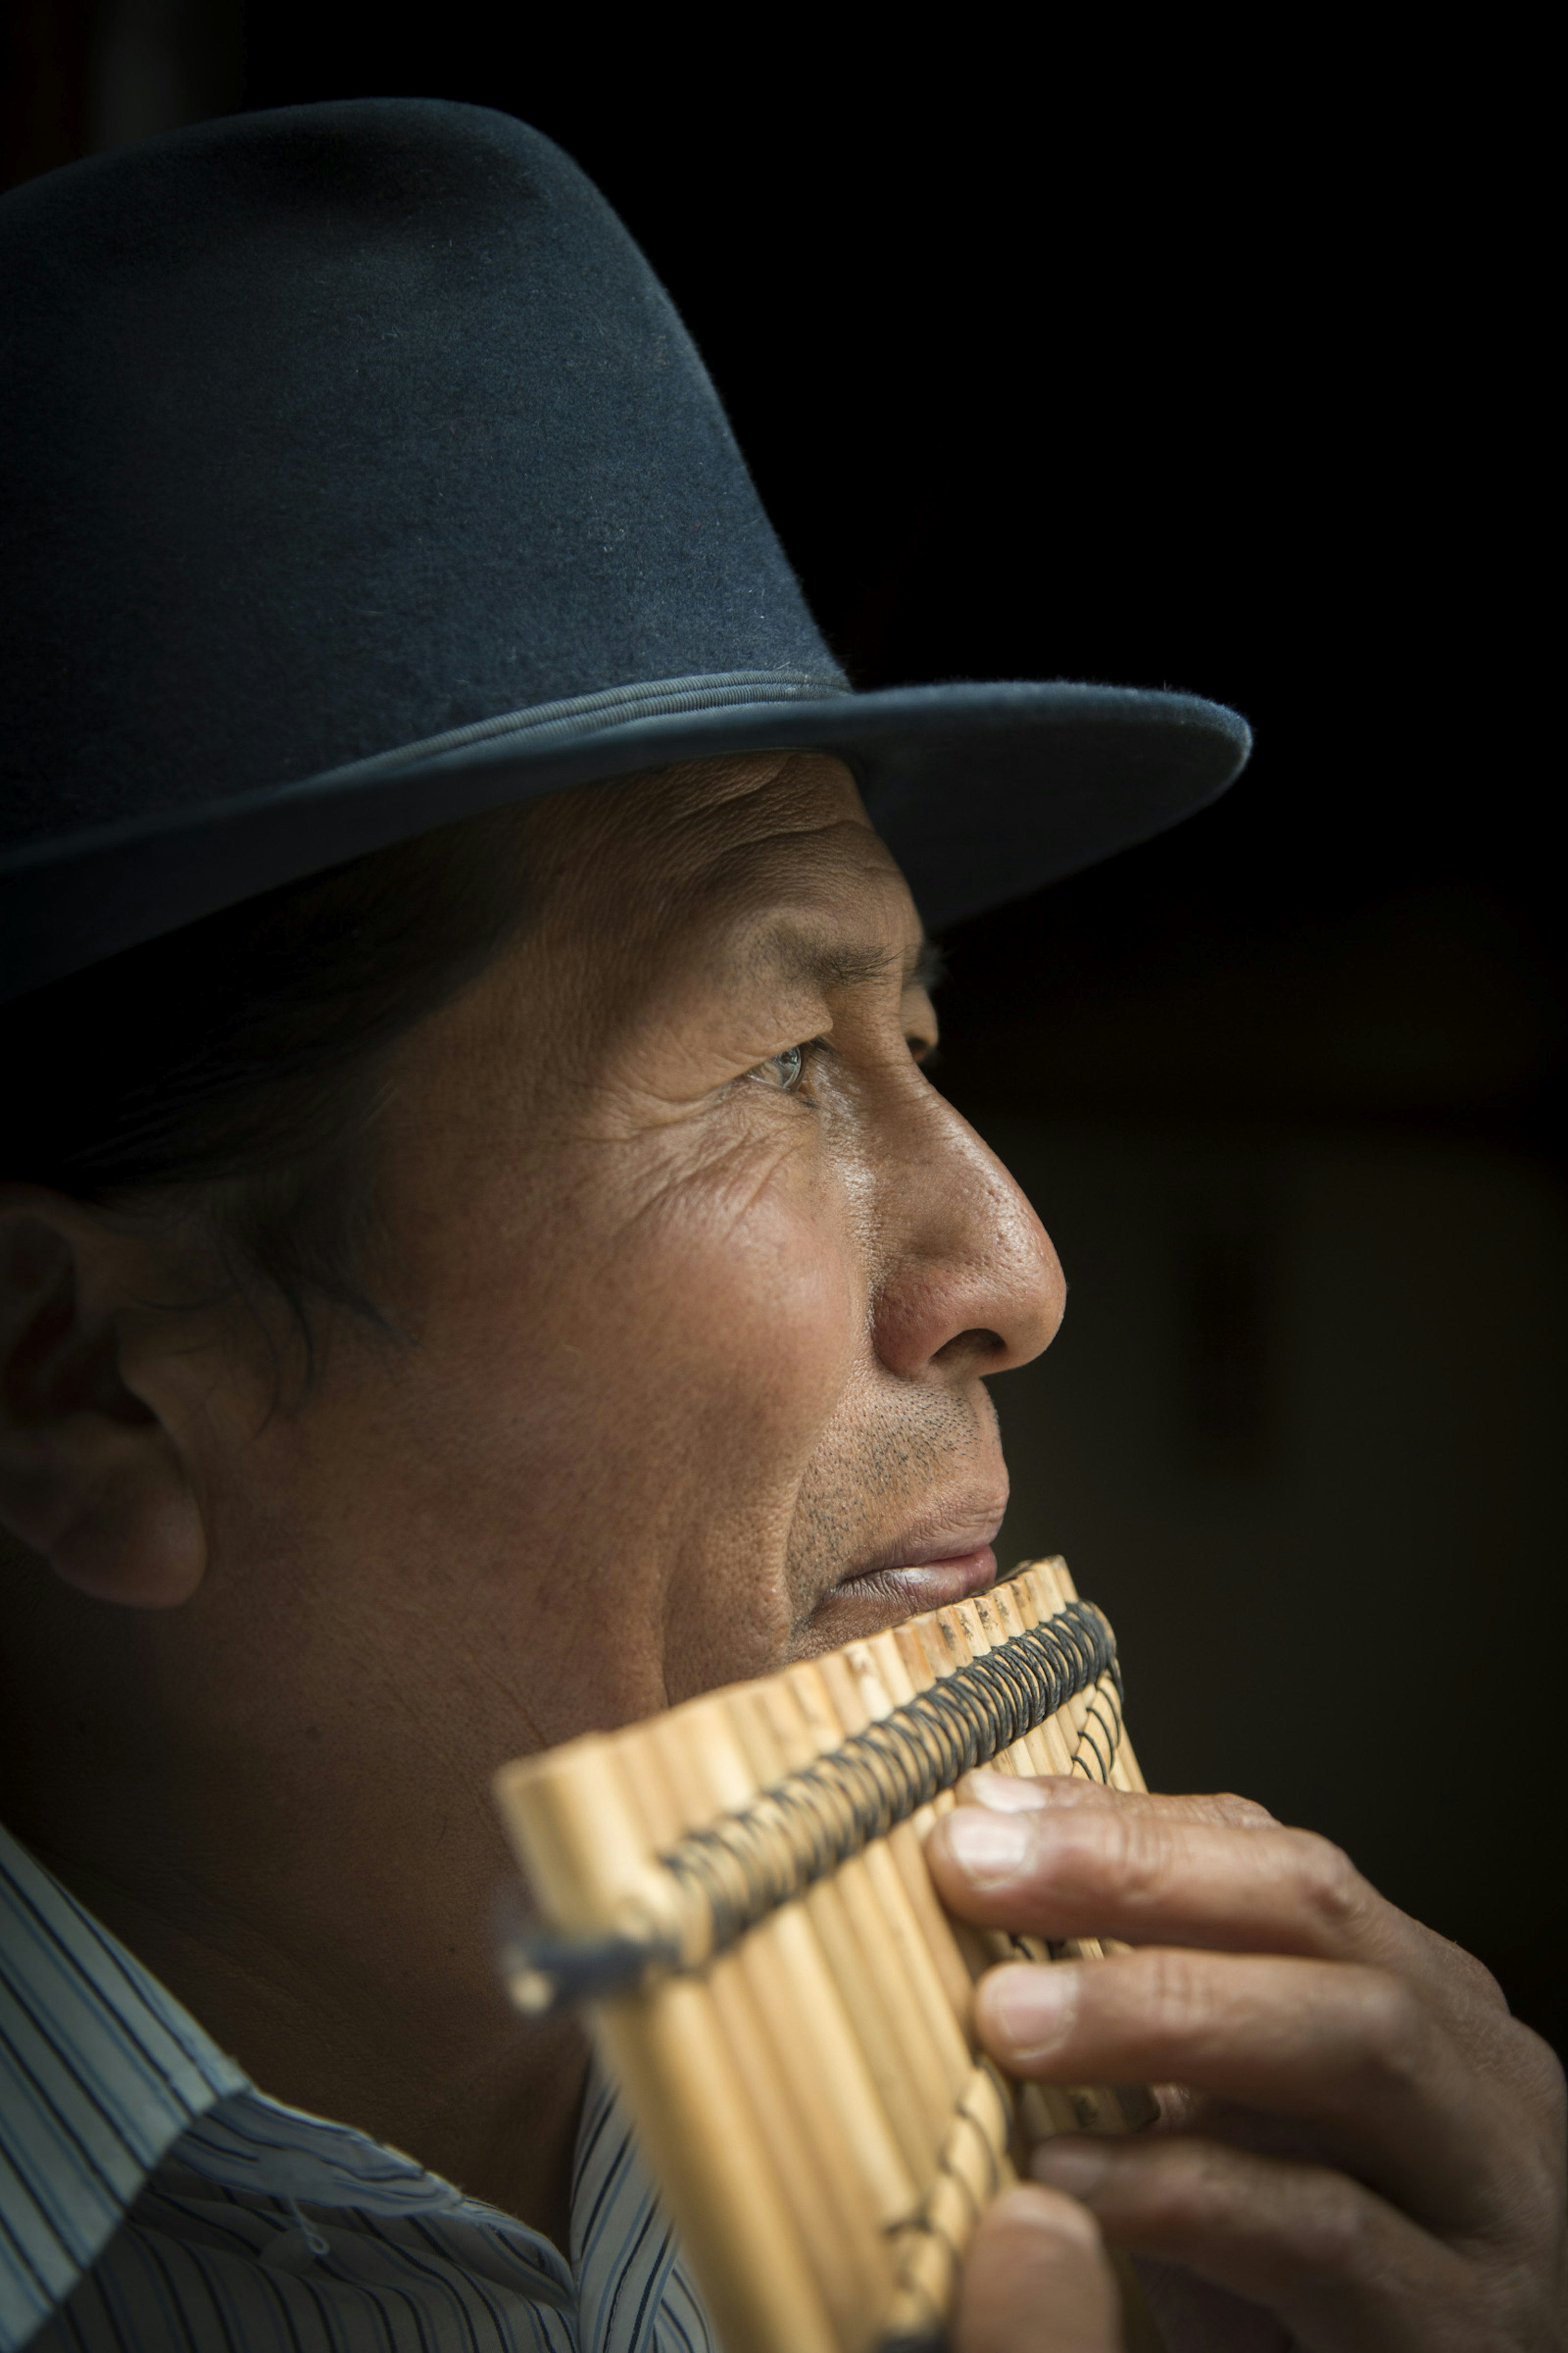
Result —
[[1307, 2122], [1434, 2228], [1483, 2226], [1516, 2162], [1486, 2078], [1382, 1969], [1166, 1946], [1013, 1962], [976, 1986], [976, 2028], [1013, 2075], [1175, 2080]]

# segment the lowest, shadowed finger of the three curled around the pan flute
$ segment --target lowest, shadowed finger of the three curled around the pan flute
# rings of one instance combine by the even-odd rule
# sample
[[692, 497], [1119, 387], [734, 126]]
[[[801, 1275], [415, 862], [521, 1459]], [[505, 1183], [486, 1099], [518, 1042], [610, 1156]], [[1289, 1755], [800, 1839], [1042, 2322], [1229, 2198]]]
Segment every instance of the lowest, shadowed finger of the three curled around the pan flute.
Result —
[[1479, 2273], [1373, 2191], [1321, 2165], [1215, 2141], [1070, 2134], [1030, 2169], [1081, 2198], [1105, 2235], [1279, 2313], [1335, 2353], [1474, 2353], [1495, 2339]]

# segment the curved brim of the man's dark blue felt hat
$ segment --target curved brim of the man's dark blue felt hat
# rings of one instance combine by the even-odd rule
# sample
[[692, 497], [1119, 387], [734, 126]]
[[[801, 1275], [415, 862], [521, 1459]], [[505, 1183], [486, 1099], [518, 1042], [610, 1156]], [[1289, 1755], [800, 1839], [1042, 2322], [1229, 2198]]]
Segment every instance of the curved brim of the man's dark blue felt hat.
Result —
[[1246, 765], [1251, 732], [1194, 694], [997, 682], [668, 711], [569, 741], [414, 746], [12, 852], [0, 998], [461, 816], [752, 751], [842, 758], [938, 932], [1201, 809]]

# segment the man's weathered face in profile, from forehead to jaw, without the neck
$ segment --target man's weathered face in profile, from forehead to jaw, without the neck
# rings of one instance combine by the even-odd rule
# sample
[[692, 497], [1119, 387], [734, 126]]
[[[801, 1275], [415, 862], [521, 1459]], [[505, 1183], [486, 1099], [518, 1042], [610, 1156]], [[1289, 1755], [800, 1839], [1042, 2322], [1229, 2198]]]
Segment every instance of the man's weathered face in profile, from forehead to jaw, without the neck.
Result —
[[169, 1398], [212, 1555], [158, 1633], [282, 1645], [303, 1715], [353, 1657], [480, 1734], [475, 1795], [985, 1584], [983, 1377], [1063, 1304], [919, 1071], [919, 920], [837, 760], [562, 795], [529, 840], [536, 920], [402, 1047], [378, 1129], [367, 1275], [411, 1346], [339, 1327], [270, 1419], [202, 1351]]

